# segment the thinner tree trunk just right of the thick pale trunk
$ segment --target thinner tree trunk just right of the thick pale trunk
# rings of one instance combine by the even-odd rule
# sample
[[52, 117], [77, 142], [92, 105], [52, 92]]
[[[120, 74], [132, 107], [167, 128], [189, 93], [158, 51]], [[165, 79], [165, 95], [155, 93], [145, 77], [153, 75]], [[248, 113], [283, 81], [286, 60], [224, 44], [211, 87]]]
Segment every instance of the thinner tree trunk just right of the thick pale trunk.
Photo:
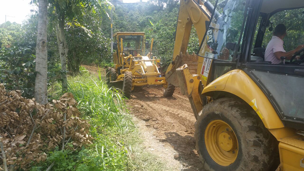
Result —
[[[67, 91], [67, 52], [69, 50], [67, 46], [67, 40], [65, 39], [64, 25], [65, 25], [64, 16], [60, 16], [58, 22], [60, 44], [58, 44], [58, 46], [59, 46], [60, 62], [61, 62], [61, 80], [62, 80], [63, 92]], [[57, 41], [58, 41], [58, 32], [57, 32]]]

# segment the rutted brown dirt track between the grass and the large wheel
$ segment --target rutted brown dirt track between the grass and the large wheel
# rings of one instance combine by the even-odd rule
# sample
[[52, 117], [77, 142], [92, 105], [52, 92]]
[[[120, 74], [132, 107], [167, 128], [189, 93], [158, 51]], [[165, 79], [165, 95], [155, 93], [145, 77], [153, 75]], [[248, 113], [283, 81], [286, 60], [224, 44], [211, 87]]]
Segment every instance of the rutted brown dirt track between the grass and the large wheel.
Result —
[[[98, 71], [98, 67], [84, 67], [92, 74], [96, 74]], [[158, 149], [155, 146], [167, 148], [168, 154], [164, 156], [178, 160], [172, 162], [175, 165], [174, 170], [203, 170], [195, 150], [193, 137], [196, 120], [188, 98], [180, 93], [178, 87], [172, 97], [164, 97], [161, 86], [135, 87], [127, 104], [130, 106], [130, 112], [136, 118], [144, 121], [144, 124], [139, 124], [140, 127], [145, 127], [142, 130], [150, 131], [153, 135], [152, 138], [159, 143], [159, 145], [152, 145], [153, 153], [157, 155]], [[159, 149], [158, 154], [160, 153], [164, 152]], [[166, 160], [168, 161], [168, 159]], [[179, 166], [176, 166], [176, 163]]]

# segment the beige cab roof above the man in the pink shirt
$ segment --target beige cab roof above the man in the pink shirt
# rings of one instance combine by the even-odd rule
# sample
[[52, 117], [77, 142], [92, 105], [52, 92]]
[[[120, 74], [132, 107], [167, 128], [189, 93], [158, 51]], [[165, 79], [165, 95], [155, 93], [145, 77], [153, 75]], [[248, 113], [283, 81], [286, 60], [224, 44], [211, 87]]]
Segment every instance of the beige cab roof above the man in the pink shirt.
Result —
[[304, 0], [263, 0], [261, 12], [275, 13], [299, 8], [304, 8]]

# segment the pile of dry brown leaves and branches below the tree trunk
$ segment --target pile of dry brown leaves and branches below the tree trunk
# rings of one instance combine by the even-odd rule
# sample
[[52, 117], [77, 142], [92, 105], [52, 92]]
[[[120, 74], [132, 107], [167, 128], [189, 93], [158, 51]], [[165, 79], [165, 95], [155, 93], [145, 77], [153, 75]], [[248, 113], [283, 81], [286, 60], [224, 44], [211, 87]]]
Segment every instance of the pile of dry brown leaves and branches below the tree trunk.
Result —
[[[26, 169], [32, 161], [45, 161], [46, 152], [56, 146], [63, 149], [71, 142], [75, 149], [90, 144], [90, 125], [79, 118], [76, 105], [71, 93], [41, 105], [23, 98], [20, 91], [7, 92], [0, 84], [0, 143], [7, 165]], [[0, 166], [5, 161], [2, 155], [0, 150]]]

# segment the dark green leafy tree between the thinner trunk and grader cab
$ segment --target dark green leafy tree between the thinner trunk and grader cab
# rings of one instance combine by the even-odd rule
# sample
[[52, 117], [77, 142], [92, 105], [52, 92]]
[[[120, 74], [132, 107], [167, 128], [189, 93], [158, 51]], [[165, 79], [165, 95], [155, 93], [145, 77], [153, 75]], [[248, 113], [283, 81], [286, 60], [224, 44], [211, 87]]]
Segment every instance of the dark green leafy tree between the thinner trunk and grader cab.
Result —
[[[85, 28], [70, 25], [66, 37], [69, 46], [68, 69], [71, 73], [79, 72], [80, 64], [110, 63], [110, 39], [103, 35], [100, 22], [93, 15], [85, 16]], [[81, 42], [81, 43], [79, 43]]]

